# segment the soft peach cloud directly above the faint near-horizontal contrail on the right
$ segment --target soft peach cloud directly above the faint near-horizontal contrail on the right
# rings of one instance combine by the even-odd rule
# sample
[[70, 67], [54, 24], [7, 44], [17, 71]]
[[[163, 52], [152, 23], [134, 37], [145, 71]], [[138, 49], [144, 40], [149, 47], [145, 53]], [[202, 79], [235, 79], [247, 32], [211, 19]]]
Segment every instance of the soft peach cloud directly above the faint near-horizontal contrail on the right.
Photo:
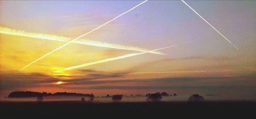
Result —
[[[165, 58], [145, 62], [132, 67], [137, 72], [173, 72], [173, 71], [209, 71], [209, 70], [245, 70], [237, 64], [240, 57], [230, 56], [189, 56], [183, 58]], [[160, 70], [157, 70], [160, 68]]]

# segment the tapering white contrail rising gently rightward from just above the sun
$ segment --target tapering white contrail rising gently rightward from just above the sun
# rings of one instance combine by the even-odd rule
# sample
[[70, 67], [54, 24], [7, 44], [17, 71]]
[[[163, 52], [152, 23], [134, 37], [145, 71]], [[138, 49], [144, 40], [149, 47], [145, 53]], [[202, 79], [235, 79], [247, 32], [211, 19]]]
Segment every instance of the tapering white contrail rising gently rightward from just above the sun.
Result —
[[[169, 46], [169, 47], [174, 47], [174, 46], [176, 46], [176, 45], [172, 45], [172, 46]], [[113, 60], [117, 60], [117, 59], [128, 58], [128, 57], [132, 57], [132, 56], [136, 56], [136, 55], [141, 55], [141, 54], [144, 54], [144, 53], [150, 53], [150, 52], [154, 52], [154, 51], [157, 51], [157, 50], [166, 49], [166, 48], [169, 48], [169, 47], [164, 47], [164, 48], [160, 48], [160, 49], [156, 49], [156, 50], [151, 50], [151, 51], [148, 51], [148, 52], [131, 53], [131, 54], [122, 55], [122, 56], [118, 56], [118, 57], [114, 57], [114, 58], [107, 58], [107, 59], [100, 60], [100, 61], [94, 61], [94, 62], [81, 64], [81, 65], [77, 65], [77, 66], [71, 66], [71, 67], [68, 67], [66, 69], [76, 69], [76, 68], [81, 68], [81, 67], [84, 67], [84, 66], [90, 66], [90, 65], [93, 65], [93, 64], [104, 63], [104, 62], [107, 62], [107, 61], [113, 61]]]

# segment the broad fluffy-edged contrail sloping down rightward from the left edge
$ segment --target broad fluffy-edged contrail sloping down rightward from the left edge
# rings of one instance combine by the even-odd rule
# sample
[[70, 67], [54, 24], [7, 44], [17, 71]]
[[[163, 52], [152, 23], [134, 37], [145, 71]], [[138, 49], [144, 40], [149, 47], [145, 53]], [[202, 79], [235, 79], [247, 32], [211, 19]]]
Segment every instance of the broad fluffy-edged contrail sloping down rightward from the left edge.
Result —
[[[70, 40], [72, 40], [70, 38], [66, 38], [62, 36], [53, 36], [50, 34], [43, 34], [43, 33], [29, 33], [26, 31], [14, 30], [14, 29], [4, 28], [4, 27], [0, 27], [0, 33], [16, 35], [16, 36], [26, 36], [26, 37], [38, 38], [38, 39], [47, 39], [47, 40], [60, 41], [60, 42], [69, 42]], [[85, 44], [85, 45], [98, 46], [98, 47], [108, 47], [108, 48], [121, 49], [121, 50], [133, 50], [133, 51], [140, 51], [140, 52], [149, 51], [147, 49], [143, 49], [139, 47], [124, 46], [121, 44], [110, 44], [110, 43], [98, 42], [98, 41], [93, 41], [88, 39], [78, 39], [76, 41], [73, 41], [72, 43]], [[152, 53], [159, 54], [159, 55], [166, 55], [157, 51]]]

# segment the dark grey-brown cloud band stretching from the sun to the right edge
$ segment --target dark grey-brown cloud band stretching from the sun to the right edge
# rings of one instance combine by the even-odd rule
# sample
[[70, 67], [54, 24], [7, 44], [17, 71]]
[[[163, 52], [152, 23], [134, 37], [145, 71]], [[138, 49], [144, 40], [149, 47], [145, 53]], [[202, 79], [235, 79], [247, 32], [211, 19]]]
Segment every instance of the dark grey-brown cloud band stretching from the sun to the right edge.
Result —
[[[254, 77], [168, 77], [123, 80], [68, 80], [64, 89], [174, 89], [256, 86]], [[70, 87], [71, 85], [75, 87]], [[78, 86], [76, 86], [78, 85]], [[82, 85], [82, 86], [81, 86]]]

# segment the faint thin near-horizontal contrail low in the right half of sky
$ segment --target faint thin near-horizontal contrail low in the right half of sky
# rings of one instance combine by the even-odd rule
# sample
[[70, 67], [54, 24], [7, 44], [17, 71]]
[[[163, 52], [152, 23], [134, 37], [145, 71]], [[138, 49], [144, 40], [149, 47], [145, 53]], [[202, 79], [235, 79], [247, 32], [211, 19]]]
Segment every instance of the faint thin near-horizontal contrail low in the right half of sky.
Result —
[[176, 71], [176, 72], [135, 72], [130, 74], [158, 74], [158, 73], [193, 73], [193, 72], [237, 72], [241, 70], [213, 70], [213, 71]]

